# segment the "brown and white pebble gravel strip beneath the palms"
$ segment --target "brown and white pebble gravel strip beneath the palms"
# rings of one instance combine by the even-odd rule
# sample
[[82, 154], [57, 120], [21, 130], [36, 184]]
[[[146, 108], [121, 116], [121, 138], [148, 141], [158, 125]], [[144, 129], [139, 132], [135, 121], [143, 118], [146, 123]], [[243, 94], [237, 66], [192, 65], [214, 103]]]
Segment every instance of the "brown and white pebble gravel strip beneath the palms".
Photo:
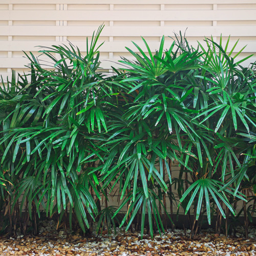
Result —
[[[140, 240], [139, 233], [124, 233], [122, 230], [116, 236], [96, 236], [84, 238], [79, 234], [71, 234], [68, 238], [63, 230], [54, 231], [51, 227], [56, 224], [50, 222], [41, 227], [38, 237], [19, 235], [13, 238], [0, 237], [0, 255], [26, 256], [164, 256], [164, 255], [256, 255], [256, 229], [250, 228], [249, 239], [243, 238], [241, 229], [237, 236], [240, 238], [226, 238], [207, 230], [197, 239], [189, 239], [182, 230], [168, 231], [162, 237], [159, 234], [151, 239], [144, 236]], [[119, 230], [119, 229], [118, 229]]]

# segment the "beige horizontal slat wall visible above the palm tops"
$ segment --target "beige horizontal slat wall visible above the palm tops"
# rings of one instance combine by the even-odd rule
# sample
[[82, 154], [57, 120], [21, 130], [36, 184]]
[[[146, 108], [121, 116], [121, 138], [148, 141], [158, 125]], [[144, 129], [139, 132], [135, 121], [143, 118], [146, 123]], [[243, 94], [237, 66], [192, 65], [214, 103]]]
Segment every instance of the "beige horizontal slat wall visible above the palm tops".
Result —
[[[179, 31], [194, 47], [204, 36], [219, 40], [222, 34], [224, 41], [231, 35], [232, 44], [240, 38], [237, 51], [247, 45], [242, 57], [256, 52], [256, 0], [0, 0], [0, 74], [6, 79], [13, 69], [26, 72], [22, 51], [38, 55], [35, 46], [69, 40], [85, 52], [86, 37], [102, 23], [104, 70], [117, 66], [113, 61], [120, 56], [130, 57], [125, 47], [135, 50], [132, 40], [146, 51], [143, 36], [154, 51], [162, 35]], [[165, 48], [171, 40], [166, 38]]]

